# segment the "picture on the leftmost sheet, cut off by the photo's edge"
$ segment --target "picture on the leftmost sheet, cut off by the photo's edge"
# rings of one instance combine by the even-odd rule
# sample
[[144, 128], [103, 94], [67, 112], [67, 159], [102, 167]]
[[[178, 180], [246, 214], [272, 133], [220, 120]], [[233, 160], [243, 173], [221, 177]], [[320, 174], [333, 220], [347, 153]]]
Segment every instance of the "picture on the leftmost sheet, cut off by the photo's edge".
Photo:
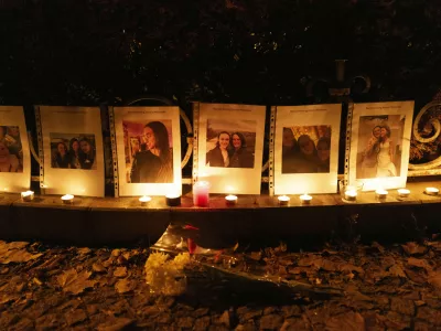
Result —
[[23, 172], [23, 150], [17, 126], [0, 126], [0, 172]]

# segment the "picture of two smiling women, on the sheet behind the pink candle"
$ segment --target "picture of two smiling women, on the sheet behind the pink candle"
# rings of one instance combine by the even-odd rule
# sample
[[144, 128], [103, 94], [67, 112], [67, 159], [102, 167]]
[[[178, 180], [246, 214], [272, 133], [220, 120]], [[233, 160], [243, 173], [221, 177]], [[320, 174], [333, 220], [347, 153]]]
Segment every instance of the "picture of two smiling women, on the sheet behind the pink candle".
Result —
[[208, 119], [207, 167], [255, 168], [256, 120]]

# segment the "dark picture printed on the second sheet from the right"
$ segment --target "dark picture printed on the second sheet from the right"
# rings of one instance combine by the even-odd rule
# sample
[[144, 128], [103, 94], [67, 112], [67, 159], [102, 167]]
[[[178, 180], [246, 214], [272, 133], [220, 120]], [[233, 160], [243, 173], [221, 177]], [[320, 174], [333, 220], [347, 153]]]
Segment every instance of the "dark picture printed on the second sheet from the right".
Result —
[[329, 173], [331, 126], [283, 127], [282, 173]]

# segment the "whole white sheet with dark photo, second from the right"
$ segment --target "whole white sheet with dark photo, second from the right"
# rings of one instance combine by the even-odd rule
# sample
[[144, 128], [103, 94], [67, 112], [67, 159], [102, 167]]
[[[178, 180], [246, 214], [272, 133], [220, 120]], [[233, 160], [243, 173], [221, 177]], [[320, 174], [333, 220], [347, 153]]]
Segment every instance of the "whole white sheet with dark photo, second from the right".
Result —
[[342, 106], [276, 107], [275, 194], [335, 193]]

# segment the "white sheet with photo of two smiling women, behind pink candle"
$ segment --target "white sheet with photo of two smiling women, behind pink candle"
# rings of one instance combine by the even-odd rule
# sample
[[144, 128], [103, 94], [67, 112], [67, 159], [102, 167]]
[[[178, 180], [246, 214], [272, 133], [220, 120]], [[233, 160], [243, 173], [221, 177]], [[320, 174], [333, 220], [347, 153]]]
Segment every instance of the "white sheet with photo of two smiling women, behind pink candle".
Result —
[[265, 106], [195, 104], [194, 170], [212, 193], [260, 194]]

